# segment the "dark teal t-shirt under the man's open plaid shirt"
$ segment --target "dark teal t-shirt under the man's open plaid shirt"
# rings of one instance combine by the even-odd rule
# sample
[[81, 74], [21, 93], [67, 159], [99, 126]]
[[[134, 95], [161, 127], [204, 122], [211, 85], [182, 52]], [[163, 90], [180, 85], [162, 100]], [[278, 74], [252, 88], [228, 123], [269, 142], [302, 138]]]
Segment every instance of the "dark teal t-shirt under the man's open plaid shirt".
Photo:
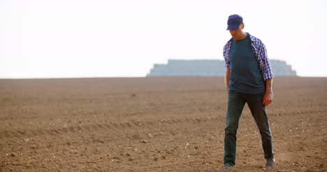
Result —
[[265, 84], [256, 60], [249, 34], [243, 40], [233, 40], [229, 54], [231, 77], [229, 90], [240, 93], [261, 94]]

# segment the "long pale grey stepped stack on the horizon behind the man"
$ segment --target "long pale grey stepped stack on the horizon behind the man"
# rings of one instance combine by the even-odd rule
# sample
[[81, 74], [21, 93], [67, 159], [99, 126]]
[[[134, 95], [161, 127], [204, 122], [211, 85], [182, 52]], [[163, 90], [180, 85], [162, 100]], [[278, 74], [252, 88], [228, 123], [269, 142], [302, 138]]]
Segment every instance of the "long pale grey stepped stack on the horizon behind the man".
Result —
[[[285, 61], [270, 60], [275, 76], [296, 76], [296, 71]], [[168, 60], [167, 64], [154, 64], [147, 77], [225, 75], [225, 62], [221, 60]]]

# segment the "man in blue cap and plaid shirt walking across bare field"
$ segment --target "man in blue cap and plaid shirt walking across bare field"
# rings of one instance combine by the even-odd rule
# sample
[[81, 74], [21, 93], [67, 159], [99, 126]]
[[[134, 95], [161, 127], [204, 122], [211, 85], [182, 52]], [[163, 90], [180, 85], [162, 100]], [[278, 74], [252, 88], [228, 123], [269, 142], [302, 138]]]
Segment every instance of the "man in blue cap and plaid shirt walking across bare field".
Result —
[[261, 134], [265, 167], [274, 167], [273, 141], [266, 107], [273, 101], [273, 72], [266, 47], [258, 38], [245, 33], [240, 15], [228, 17], [227, 30], [231, 40], [224, 46], [228, 106], [224, 139], [224, 167], [235, 167], [236, 133], [245, 103], [254, 117]]

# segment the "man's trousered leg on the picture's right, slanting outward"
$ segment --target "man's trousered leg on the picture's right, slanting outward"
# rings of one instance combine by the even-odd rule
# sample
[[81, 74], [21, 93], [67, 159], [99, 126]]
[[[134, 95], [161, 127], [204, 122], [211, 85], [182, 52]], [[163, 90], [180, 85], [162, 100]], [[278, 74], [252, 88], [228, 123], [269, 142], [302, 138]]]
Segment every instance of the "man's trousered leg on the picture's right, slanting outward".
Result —
[[263, 94], [247, 95], [247, 104], [249, 105], [252, 116], [254, 120], [256, 120], [256, 126], [258, 126], [261, 134], [264, 157], [265, 159], [272, 159], [274, 157], [273, 136], [270, 132], [266, 107], [263, 106], [262, 102]]

